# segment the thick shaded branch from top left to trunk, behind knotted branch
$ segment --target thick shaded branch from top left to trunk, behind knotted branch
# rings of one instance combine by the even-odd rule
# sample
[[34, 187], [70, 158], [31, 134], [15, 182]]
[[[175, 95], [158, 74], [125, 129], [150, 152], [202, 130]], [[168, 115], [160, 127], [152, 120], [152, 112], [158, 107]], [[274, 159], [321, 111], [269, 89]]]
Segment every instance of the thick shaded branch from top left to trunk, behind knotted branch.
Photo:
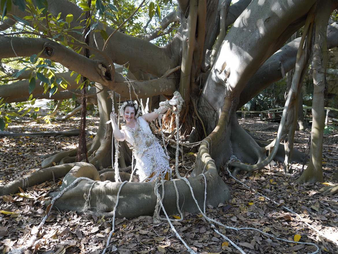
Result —
[[[48, 12], [53, 14], [55, 17], [57, 17], [58, 14], [61, 13], [60, 19], [65, 20], [68, 13], [73, 14], [74, 20], [70, 24], [70, 29], [73, 29], [76, 26], [82, 26], [80, 18], [82, 14], [82, 9], [79, 6], [68, 0], [46, 1], [48, 2]], [[65, 12], [65, 9], [67, 9], [67, 12]], [[17, 6], [12, 6], [11, 10], [7, 12], [7, 16], [8, 15], [16, 15], [19, 18], [23, 19], [25, 16], [31, 16], [31, 13], [27, 11], [21, 12], [21, 10], [17, 8]], [[46, 26], [45, 23], [43, 23], [43, 25]], [[43, 30], [44, 28], [42, 27], [41, 29]], [[104, 28], [104, 25], [100, 22], [98, 23], [96, 30], [99, 29], [105, 30], [108, 35], [111, 35], [115, 32], [115, 29], [111, 27]], [[68, 31], [67, 33], [71, 37], [75, 38], [77, 41], [82, 41], [82, 36], [75, 33], [74, 31]], [[104, 46], [104, 40], [99, 34], [100, 33], [93, 33], [94, 45], [91, 46], [102, 49]], [[53, 34], [53, 36], [54, 35], [56, 34]], [[68, 43], [72, 45], [72, 42], [69, 41]], [[114, 36], [111, 37], [105, 47], [104, 52], [106, 53], [106, 55], [110, 56], [113, 59], [114, 63], [121, 65], [128, 63], [129, 70], [132, 72], [140, 70], [142, 72], [150, 73], [156, 77], [161, 77], [163, 73], [165, 73], [168, 69], [177, 66], [180, 60], [179, 55], [174, 54], [174, 52], [172, 52], [171, 50], [163, 50], [162, 47], [158, 47], [152, 43], [149, 43], [148, 41], [132, 37], [120, 32], [116, 32]], [[105, 63], [107, 65], [106, 69], [108, 69], [108, 62], [104, 56], [96, 54], [94, 59]], [[78, 65], [80, 66], [82, 64]], [[75, 71], [75, 68], [71, 69]], [[112, 73], [111, 76], [113, 75], [114, 74]], [[88, 78], [91, 79], [90, 77]], [[102, 82], [99, 82], [95, 79], [91, 80], [97, 81], [98, 83], [106, 86], [105, 82], [103, 82], [102, 80]]]

